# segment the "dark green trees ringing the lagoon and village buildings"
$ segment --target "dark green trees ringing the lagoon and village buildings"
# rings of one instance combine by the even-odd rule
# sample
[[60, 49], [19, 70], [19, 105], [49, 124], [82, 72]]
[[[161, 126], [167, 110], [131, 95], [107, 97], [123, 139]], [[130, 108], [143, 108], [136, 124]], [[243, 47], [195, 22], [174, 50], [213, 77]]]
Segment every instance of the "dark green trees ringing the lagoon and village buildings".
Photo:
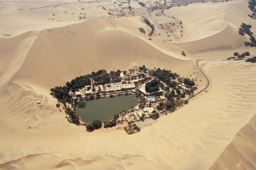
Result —
[[[139, 70], [146, 73], [147, 68], [145, 65], [143, 65], [139, 67]], [[84, 86], [91, 85], [91, 79], [94, 81], [95, 84], [119, 82], [121, 81], [120, 73], [121, 73], [120, 70], [110, 71], [110, 73], [107, 73], [106, 70], [101, 69], [101, 70], [98, 70], [97, 72], [91, 72], [91, 74], [76, 77], [75, 79], [72, 79], [70, 82], [66, 82], [65, 86], [56, 86], [55, 88], [51, 88], [50, 94], [58, 100], [56, 107], [59, 108], [59, 110], [60, 110], [61, 104], [63, 104], [62, 108], [64, 109], [64, 112], [68, 115], [66, 116], [68, 122], [73, 123], [75, 125], [84, 125], [86, 127], [86, 130], [90, 132], [96, 129], [99, 129], [102, 126], [104, 128], [111, 128], [116, 126], [116, 124], [118, 123], [117, 119], [121, 114], [115, 115], [114, 119], [104, 122], [104, 124], [100, 120], [95, 120], [90, 124], [85, 124], [85, 123], [81, 124], [80, 122], [81, 120], [76, 113], [75, 107], [76, 106], [80, 108], [86, 107], [86, 103], [83, 101], [82, 97], [73, 99], [72, 96], [70, 95], [70, 92], [75, 92], [78, 89], [83, 88]], [[126, 73], [124, 74], [126, 75]], [[195, 85], [194, 79], [189, 79], [184, 77], [181, 78], [177, 73], [172, 73], [171, 70], [158, 68], [158, 69], [152, 70], [149, 77], [145, 77], [145, 74], [143, 75], [141, 76], [144, 77], [144, 82], [148, 80], [148, 78], [151, 79], [152, 76], [155, 77], [153, 80], [147, 82], [145, 85], [146, 91], [151, 92], [153, 96], [162, 95], [163, 92], [159, 91], [160, 88], [166, 91], [164, 95], [168, 101], [162, 106], [164, 106], [170, 111], [174, 111], [175, 108], [180, 103], [183, 102], [181, 98], [184, 98], [185, 94], [193, 95], [194, 90], [197, 89], [197, 87], [194, 86]], [[183, 82], [189, 89], [182, 94], [180, 89], [177, 87], [178, 83], [175, 80], [178, 83]], [[110, 97], [114, 97], [114, 95], [111, 94]], [[139, 109], [143, 109], [147, 103], [147, 100], [145, 97], [142, 97], [141, 95], [139, 95], [138, 97], [140, 98]], [[91, 95], [90, 100], [92, 99], [94, 99], [94, 97]], [[159, 114], [154, 112], [150, 117], [152, 119], [158, 119]]]

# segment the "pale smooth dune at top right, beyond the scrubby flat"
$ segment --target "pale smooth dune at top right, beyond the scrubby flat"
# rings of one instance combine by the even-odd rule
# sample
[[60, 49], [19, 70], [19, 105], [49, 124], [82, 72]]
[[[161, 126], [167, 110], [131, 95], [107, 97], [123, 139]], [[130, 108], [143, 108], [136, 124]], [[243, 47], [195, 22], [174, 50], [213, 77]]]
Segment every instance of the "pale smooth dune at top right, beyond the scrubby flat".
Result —
[[221, 32], [228, 25], [239, 28], [248, 23], [248, 2], [194, 3], [189, 6], [173, 7], [165, 11], [167, 16], [177, 16], [184, 24], [183, 42], [203, 39]]

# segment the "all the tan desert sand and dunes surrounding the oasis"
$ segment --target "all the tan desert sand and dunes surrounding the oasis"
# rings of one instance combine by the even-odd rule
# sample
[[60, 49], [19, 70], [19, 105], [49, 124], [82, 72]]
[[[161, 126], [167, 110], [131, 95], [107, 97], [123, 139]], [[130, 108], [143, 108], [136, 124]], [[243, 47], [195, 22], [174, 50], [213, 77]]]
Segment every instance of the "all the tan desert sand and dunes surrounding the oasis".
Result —
[[[256, 168], [256, 65], [220, 60], [256, 54], [244, 45], [249, 36], [238, 34], [241, 23], [256, 32], [248, 2], [194, 3], [161, 17], [130, 5], [134, 13], [125, 8], [118, 17], [114, 1], [0, 1], [0, 169]], [[151, 30], [142, 16], [156, 27], [152, 40], [139, 32]], [[157, 27], [162, 21], [175, 23], [169, 36]], [[198, 77], [200, 90], [198, 59], [208, 92], [132, 135], [70, 124], [50, 95], [76, 76], [142, 64]]]

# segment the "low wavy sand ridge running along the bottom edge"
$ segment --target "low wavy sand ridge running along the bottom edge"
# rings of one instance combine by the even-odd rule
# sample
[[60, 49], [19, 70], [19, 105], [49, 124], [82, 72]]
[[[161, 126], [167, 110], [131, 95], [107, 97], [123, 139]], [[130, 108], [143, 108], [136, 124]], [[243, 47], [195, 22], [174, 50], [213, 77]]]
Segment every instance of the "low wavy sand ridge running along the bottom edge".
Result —
[[[36, 164], [34, 162], [36, 161]], [[41, 162], [41, 163], [40, 163]], [[45, 164], [44, 162], [47, 162]], [[56, 165], [56, 162], [59, 164]], [[28, 165], [34, 164], [33, 168]], [[64, 159], [57, 157], [54, 154], [37, 154], [28, 155], [18, 160], [0, 165], [0, 168], [11, 169], [138, 169], [141, 164], [143, 168], [161, 168], [170, 169], [171, 166], [166, 163], [157, 163], [147, 160], [143, 156], [124, 156], [122, 158], [114, 156], [97, 156], [91, 161], [78, 159]]]

